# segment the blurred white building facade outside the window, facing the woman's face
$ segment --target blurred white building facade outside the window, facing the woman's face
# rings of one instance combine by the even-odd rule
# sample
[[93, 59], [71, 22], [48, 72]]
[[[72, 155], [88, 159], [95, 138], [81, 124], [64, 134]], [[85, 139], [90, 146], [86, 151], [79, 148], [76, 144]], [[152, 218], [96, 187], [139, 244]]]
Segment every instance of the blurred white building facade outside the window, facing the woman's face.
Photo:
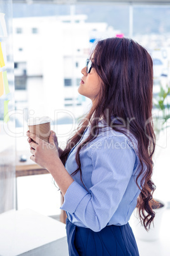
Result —
[[29, 116], [48, 115], [51, 120], [66, 116], [72, 120], [88, 111], [91, 101], [77, 89], [91, 42], [120, 31], [106, 23], [88, 23], [86, 18], [13, 19], [16, 110], [26, 109]]

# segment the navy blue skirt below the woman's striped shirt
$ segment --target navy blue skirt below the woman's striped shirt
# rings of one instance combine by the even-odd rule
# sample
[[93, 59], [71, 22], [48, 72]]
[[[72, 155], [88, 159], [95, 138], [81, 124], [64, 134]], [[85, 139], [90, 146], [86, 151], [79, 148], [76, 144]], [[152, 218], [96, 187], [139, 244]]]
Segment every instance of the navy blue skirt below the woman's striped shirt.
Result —
[[99, 232], [66, 220], [70, 256], [139, 256], [133, 231], [126, 225], [109, 225]]

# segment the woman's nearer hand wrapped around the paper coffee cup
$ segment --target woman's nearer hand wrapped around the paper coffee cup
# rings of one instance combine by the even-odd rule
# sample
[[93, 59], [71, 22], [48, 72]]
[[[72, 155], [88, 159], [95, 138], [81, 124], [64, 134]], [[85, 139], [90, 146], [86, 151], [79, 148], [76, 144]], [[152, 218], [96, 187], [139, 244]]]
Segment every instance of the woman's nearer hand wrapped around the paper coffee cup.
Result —
[[29, 131], [26, 134], [29, 137], [30, 153], [32, 153], [30, 159], [42, 168], [50, 169], [53, 166], [54, 160], [59, 158], [57, 149], [58, 141], [57, 138], [55, 139], [55, 132], [51, 131], [49, 143], [31, 134]]

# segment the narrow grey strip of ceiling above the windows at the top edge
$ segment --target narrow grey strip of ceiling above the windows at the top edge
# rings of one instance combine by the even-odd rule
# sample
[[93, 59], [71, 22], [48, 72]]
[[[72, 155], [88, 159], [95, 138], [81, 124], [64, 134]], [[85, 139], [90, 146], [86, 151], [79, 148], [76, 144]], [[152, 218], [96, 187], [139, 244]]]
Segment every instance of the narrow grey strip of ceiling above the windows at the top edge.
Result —
[[170, 0], [13, 0], [13, 3], [49, 3], [49, 4], [94, 4], [94, 3], [132, 3], [132, 4], [170, 4]]

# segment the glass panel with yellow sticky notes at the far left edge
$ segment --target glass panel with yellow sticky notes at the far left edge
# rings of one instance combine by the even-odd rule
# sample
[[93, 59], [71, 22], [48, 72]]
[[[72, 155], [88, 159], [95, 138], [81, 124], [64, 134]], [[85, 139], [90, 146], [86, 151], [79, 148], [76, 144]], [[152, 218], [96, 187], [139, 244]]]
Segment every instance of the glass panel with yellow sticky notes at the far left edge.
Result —
[[15, 119], [13, 110], [12, 3], [1, 1], [0, 13], [0, 213], [15, 208]]

